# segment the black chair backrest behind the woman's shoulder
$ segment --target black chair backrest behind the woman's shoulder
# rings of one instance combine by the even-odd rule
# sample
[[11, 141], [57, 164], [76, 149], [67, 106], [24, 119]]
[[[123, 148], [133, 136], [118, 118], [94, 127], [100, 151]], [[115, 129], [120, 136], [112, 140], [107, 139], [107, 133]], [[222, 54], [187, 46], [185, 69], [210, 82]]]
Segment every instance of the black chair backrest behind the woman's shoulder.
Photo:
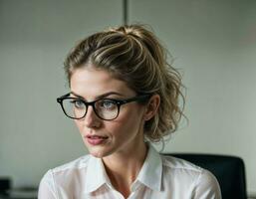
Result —
[[217, 178], [222, 199], [246, 199], [245, 166], [240, 157], [215, 154], [168, 153], [211, 171]]

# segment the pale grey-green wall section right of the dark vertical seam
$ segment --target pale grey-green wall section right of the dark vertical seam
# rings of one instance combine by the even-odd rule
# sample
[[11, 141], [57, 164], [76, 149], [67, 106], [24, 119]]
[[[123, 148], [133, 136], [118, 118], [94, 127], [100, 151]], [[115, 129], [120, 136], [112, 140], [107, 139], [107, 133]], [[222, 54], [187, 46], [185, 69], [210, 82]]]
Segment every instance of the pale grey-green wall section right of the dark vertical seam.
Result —
[[187, 88], [189, 124], [165, 151], [240, 156], [256, 193], [256, 1], [131, 0], [129, 11], [153, 27]]

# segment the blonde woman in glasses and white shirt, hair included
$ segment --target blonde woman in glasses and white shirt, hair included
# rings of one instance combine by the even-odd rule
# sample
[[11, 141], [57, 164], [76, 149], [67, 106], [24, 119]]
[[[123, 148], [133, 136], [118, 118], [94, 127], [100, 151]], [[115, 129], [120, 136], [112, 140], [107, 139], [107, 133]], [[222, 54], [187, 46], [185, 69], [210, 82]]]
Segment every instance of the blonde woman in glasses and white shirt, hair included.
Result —
[[174, 132], [182, 115], [180, 76], [152, 32], [96, 33], [70, 52], [65, 71], [71, 92], [58, 102], [90, 154], [49, 170], [39, 199], [221, 198], [211, 173], [149, 143]]

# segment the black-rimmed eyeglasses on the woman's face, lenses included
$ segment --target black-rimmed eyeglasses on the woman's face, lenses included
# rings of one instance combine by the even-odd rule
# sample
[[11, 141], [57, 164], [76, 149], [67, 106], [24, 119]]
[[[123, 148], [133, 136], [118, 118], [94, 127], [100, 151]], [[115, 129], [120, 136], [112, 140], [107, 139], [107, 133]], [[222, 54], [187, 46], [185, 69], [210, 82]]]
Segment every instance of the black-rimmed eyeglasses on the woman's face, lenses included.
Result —
[[81, 119], [86, 116], [89, 105], [92, 105], [96, 115], [104, 120], [116, 119], [120, 114], [120, 107], [131, 101], [145, 102], [150, 95], [142, 95], [127, 100], [100, 99], [85, 101], [79, 98], [72, 98], [70, 94], [57, 99], [62, 106], [64, 113], [74, 119]]

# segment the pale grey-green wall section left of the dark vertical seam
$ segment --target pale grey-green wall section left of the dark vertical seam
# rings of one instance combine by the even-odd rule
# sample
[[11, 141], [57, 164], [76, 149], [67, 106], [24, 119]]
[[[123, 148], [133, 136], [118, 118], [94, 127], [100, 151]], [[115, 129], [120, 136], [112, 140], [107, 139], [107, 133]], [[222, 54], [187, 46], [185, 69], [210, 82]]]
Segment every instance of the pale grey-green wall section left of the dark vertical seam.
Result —
[[121, 25], [120, 0], [0, 0], [0, 176], [38, 185], [51, 167], [87, 153], [56, 99], [75, 42]]

